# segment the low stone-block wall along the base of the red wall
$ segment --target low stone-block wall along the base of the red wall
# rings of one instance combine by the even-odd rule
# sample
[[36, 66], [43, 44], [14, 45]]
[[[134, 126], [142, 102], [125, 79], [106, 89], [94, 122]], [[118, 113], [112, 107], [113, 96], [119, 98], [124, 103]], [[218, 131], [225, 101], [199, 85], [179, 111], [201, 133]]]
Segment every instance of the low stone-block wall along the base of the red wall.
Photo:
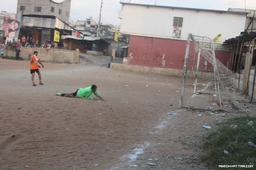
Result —
[[[130, 72], [138, 72], [138, 73], [161, 74], [161, 75], [175, 76], [175, 77], [182, 77], [183, 75], [183, 70], [176, 70], [172, 68], [137, 66], [137, 65], [129, 65], [129, 64], [119, 64], [119, 63], [111, 63], [110, 68], [115, 70], [124, 70], [124, 71], [130, 71]], [[198, 78], [209, 79], [213, 76], [214, 75], [212, 73], [198, 72]], [[195, 72], [187, 71], [186, 77], [195, 78]]]

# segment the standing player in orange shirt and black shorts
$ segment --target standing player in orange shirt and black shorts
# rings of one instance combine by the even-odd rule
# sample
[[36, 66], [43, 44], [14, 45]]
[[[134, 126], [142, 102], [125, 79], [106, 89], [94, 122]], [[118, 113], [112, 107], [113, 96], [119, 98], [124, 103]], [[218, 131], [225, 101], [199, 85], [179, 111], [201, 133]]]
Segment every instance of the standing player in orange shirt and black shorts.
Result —
[[30, 57], [30, 74], [32, 76], [31, 79], [32, 79], [33, 86], [36, 86], [35, 81], [34, 81], [35, 72], [37, 72], [37, 74], [38, 74], [39, 84], [44, 85], [41, 80], [41, 73], [39, 71], [40, 66], [38, 66], [38, 63], [41, 64], [42, 67], [44, 67], [44, 64], [42, 64], [40, 59], [38, 58], [38, 52], [34, 51], [34, 55], [32, 55]]

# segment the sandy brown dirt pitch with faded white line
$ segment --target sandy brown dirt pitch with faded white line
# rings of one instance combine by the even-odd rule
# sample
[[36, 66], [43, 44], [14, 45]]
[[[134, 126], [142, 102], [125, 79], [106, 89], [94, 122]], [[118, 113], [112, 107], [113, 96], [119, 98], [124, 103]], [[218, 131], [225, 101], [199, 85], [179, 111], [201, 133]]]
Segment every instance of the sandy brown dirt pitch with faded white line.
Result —
[[[44, 63], [43, 86], [32, 86], [28, 61], [0, 60], [1, 170], [210, 169], [196, 146], [236, 110], [177, 109], [181, 78], [112, 70], [105, 58], [98, 65], [85, 58]], [[105, 101], [55, 95], [92, 84]], [[188, 101], [205, 109], [214, 98]]]

